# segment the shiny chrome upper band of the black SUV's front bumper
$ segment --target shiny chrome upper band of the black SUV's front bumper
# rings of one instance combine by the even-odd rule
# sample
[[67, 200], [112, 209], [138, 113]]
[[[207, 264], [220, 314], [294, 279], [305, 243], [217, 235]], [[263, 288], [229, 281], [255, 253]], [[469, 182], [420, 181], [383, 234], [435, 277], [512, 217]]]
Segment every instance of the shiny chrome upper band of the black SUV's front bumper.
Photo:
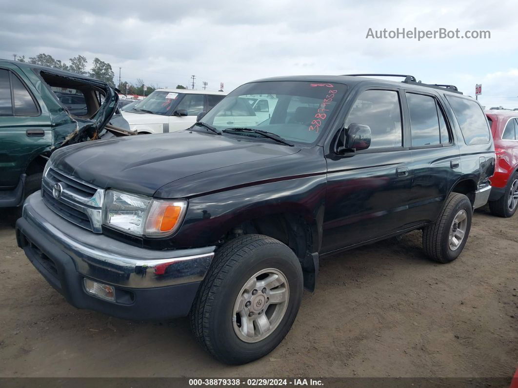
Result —
[[[79, 274], [99, 282], [128, 288], [156, 288], [201, 281], [215, 247], [152, 250], [128, 245], [71, 224], [50, 210], [39, 192], [25, 201], [23, 218], [33, 234], [66, 253]], [[31, 242], [31, 233], [22, 231]], [[52, 252], [45, 252], [52, 260]]]

